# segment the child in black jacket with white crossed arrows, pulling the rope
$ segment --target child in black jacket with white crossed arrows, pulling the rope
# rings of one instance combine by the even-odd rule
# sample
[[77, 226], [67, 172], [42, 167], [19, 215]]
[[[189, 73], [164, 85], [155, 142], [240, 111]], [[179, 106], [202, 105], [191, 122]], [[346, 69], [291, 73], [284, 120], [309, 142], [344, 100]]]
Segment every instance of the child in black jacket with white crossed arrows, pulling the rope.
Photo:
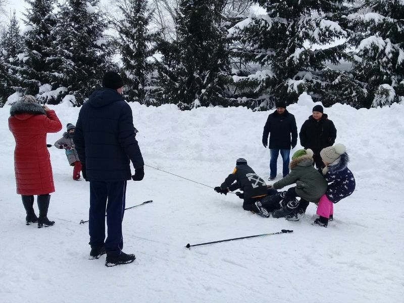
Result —
[[260, 199], [268, 194], [265, 181], [258, 176], [252, 168], [247, 165], [247, 161], [239, 158], [233, 172], [224, 180], [222, 185], [214, 188], [216, 192], [227, 194], [229, 191], [240, 189], [242, 193], [236, 193], [243, 199], [243, 209], [259, 213], [264, 217], [269, 217], [266, 209], [261, 207]]

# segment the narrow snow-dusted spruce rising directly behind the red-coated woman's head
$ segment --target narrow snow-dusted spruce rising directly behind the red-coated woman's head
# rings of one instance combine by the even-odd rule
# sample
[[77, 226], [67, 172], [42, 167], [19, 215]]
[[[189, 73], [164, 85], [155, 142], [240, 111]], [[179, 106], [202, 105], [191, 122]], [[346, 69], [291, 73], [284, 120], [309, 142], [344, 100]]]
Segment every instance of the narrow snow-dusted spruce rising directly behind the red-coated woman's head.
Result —
[[24, 93], [36, 95], [43, 84], [51, 84], [51, 70], [48, 59], [54, 47], [52, 31], [56, 25], [53, 13], [56, 0], [25, 0], [29, 4], [24, 14], [23, 30], [26, 57], [20, 69]]

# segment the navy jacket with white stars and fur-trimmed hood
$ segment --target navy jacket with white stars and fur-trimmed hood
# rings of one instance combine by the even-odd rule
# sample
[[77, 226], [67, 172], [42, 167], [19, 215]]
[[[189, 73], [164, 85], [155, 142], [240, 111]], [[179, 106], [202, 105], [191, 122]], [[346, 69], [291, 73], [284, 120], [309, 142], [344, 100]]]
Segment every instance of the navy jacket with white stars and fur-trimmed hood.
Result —
[[[349, 157], [344, 153], [339, 158], [339, 162], [327, 166], [324, 178], [329, 184], [325, 194], [332, 203], [337, 203], [355, 190], [355, 178], [347, 167], [348, 162]], [[322, 169], [319, 169], [319, 172], [322, 173]]]

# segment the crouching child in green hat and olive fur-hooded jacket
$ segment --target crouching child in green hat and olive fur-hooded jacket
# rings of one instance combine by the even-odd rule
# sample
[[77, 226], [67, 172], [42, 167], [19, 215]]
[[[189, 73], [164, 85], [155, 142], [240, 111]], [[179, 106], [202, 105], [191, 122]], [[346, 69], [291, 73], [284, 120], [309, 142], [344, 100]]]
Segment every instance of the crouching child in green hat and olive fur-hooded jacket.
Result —
[[[268, 210], [273, 207], [274, 201], [282, 200], [282, 207], [272, 213], [274, 218], [291, 214], [300, 203], [308, 204], [308, 201], [317, 203], [327, 190], [327, 182], [313, 167], [313, 151], [310, 148], [296, 150], [289, 167], [290, 173], [287, 176], [268, 187], [280, 189], [293, 183], [296, 183], [296, 186], [278, 193], [274, 197], [268, 197], [267, 201], [262, 200], [263, 207]], [[300, 197], [300, 200], [297, 200], [296, 197]]]

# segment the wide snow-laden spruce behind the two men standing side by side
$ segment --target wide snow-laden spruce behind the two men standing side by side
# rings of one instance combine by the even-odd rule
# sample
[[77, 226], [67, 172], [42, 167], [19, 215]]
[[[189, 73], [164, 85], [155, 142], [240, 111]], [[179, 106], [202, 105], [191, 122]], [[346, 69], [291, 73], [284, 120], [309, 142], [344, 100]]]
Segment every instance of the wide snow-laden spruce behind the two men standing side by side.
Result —
[[[266, 9], [264, 15], [250, 16], [230, 29], [233, 39], [245, 44], [240, 56], [245, 62], [261, 66], [256, 73], [238, 77], [234, 81], [242, 87], [251, 87], [257, 94], [261, 109], [271, 108], [276, 100], [287, 104], [307, 91], [315, 100], [321, 100], [330, 80], [329, 64], [338, 65], [344, 56], [345, 44], [324, 49], [312, 45], [327, 45], [347, 37], [340, 25], [341, 13], [347, 10], [349, 0], [257, 0]], [[328, 72], [328, 75], [326, 75]], [[334, 83], [335, 84], [335, 83]], [[266, 102], [261, 102], [266, 98]], [[328, 104], [337, 99], [328, 100]], [[252, 107], [254, 107], [252, 106]]]

